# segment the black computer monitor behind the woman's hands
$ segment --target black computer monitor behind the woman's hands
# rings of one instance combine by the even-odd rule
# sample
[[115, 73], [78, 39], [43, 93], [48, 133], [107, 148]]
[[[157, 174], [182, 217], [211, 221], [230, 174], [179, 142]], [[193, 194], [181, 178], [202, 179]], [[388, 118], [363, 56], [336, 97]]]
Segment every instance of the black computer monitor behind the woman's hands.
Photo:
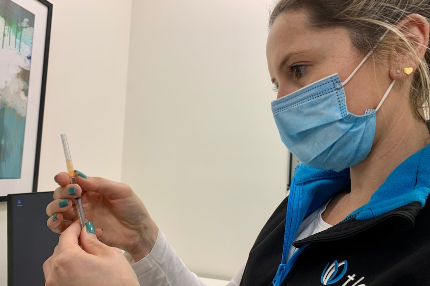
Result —
[[43, 262], [59, 235], [47, 226], [52, 191], [7, 195], [7, 286], [43, 286]]

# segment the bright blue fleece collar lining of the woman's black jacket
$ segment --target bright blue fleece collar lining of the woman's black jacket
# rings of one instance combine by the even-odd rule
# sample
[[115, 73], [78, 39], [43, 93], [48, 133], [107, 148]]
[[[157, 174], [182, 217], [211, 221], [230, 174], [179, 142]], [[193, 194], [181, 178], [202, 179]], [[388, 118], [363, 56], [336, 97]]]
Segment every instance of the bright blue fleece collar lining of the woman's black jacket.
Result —
[[[292, 187], [300, 186], [301, 198], [306, 201], [302, 206], [308, 207], [305, 208], [304, 217], [351, 184], [349, 169], [341, 172], [324, 171], [303, 164], [297, 165], [294, 179], [296, 186]], [[370, 201], [348, 217], [355, 216], [357, 220], [365, 220], [414, 201], [420, 202], [421, 207], [424, 207], [429, 193], [430, 144], [394, 169]]]

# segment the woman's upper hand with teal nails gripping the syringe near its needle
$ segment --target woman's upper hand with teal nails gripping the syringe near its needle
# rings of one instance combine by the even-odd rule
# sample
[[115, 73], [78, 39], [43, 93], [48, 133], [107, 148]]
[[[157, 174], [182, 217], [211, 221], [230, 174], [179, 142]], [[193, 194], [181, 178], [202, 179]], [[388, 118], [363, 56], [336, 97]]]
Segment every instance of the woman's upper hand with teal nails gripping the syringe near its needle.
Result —
[[[101, 242], [129, 252], [135, 261], [145, 257], [158, 236], [158, 227], [145, 205], [126, 184], [76, 173], [77, 184], [70, 184], [67, 173], [55, 181], [54, 200], [46, 207], [48, 227], [57, 233], [78, 219], [74, 198], [81, 196], [85, 216], [96, 228]], [[69, 221], [69, 222], [67, 222]]]

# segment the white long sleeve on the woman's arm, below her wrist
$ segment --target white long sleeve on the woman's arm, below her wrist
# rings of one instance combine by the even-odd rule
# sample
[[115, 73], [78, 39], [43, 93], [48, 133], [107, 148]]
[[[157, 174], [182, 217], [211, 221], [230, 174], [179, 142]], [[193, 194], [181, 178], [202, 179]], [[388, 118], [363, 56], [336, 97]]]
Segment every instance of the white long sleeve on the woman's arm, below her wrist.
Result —
[[[206, 286], [182, 262], [161, 230], [151, 252], [131, 266], [140, 286]], [[238, 275], [236, 274], [227, 286], [239, 286], [243, 269], [244, 267], [241, 269], [241, 274], [238, 273], [240, 277], [236, 278]]]

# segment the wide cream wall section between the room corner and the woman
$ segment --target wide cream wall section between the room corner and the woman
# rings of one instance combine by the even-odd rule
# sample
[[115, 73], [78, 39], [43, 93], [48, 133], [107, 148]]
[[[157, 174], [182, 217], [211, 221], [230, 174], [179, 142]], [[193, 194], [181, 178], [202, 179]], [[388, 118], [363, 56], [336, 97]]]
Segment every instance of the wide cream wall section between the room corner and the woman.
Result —
[[122, 181], [181, 258], [229, 280], [285, 195], [260, 0], [133, 1]]

